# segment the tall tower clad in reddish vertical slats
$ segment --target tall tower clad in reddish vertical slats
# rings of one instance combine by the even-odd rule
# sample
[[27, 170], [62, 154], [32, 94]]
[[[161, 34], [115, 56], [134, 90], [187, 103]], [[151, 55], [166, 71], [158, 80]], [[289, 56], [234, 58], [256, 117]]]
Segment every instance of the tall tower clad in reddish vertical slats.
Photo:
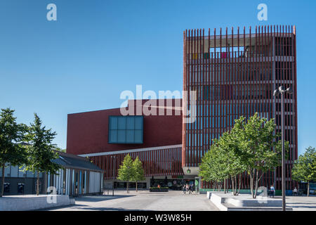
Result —
[[[293, 26], [261, 26], [246, 33], [228, 28], [185, 30], [183, 44], [183, 90], [196, 91], [196, 120], [183, 122], [183, 172], [197, 169], [212, 139], [234, 126], [240, 116], [251, 117], [258, 112], [268, 120], [275, 118], [281, 131], [281, 100], [273, 97], [278, 86], [291, 86], [294, 94], [285, 94], [285, 134], [289, 141], [286, 162], [287, 188], [293, 188], [291, 167], [297, 150], [296, 98], [296, 29]], [[190, 109], [189, 97], [184, 107]], [[183, 121], [185, 115], [183, 115]], [[275, 183], [281, 188], [281, 169], [267, 172], [261, 186]], [[209, 184], [202, 182], [202, 188]], [[249, 188], [247, 174], [242, 188]]]

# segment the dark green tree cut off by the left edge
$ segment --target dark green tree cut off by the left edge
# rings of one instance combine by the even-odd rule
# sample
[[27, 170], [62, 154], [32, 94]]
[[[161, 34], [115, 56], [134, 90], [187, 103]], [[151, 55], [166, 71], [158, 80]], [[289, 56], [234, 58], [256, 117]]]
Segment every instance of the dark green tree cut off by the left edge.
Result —
[[2, 168], [1, 193], [4, 193], [4, 168], [6, 163], [21, 166], [26, 162], [26, 152], [21, 141], [25, 139], [27, 126], [18, 124], [13, 116], [14, 110], [1, 109], [0, 113], [0, 165]]

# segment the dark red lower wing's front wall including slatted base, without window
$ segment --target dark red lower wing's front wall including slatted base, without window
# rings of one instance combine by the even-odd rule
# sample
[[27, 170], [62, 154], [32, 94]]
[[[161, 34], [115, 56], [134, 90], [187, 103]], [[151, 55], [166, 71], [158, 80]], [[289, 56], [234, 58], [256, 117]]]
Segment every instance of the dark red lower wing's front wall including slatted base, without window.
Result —
[[[145, 176], [183, 174], [182, 115], [180, 107], [175, 107], [176, 101], [181, 103], [180, 99], [173, 99], [173, 106], [167, 108], [166, 100], [164, 105], [157, 108], [157, 115], [144, 115], [142, 144], [108, 143], [109, 116], [121, 115], [120, 108], [70, 114], [67, 123], [67, 153], [88, 156], [104, 170], [105, 179], [117, 176], [119, 165], [127, 153], [133, 159], [140, 158]], [[134, 115], [143, 115], [137, 112], [136, 107], [141, 105], [143, 108], [145, 103], [146, 100], [129, 101], [129, 107], [133, 104]]]

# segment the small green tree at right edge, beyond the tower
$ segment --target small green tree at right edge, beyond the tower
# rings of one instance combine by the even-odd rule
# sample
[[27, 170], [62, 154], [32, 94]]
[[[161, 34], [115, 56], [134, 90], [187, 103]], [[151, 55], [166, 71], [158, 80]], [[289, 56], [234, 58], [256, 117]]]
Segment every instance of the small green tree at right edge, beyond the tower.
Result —
[[292, 179], [308, 183], [308, 196], [310, 195], [310, 181], [316, 181], [316, 150], [311, 146], [305, 153], [295, 160], [292, 168]]

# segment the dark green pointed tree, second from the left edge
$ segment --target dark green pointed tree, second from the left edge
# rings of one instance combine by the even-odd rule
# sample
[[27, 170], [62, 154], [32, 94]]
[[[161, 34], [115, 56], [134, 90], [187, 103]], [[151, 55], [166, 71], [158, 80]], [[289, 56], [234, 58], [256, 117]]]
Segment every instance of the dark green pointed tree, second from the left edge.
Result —
[[27, 146], [27, 165], [25, 170], [29, 170], [37, 174], [37, 195], [39, 195], [39, 173], [50, 172], [57, 174], [60, 166], [53, 162], [58, 158], [58, 153], [55, 152], [55, 147], [52, 141], [56, 133], [51, 129], [42, 127], [41, 119], [34, 113], [34, 123], [29, 127], [27, 138], [29, 145]]

